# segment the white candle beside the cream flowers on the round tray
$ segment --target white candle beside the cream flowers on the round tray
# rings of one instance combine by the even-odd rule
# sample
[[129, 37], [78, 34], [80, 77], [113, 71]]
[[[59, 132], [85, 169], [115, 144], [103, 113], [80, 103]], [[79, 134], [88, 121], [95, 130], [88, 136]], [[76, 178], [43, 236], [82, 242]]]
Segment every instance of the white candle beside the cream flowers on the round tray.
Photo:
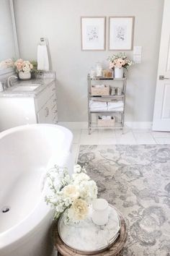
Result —
[[98, 198], [92, 203], [92, 221], [97, 225], [105, 225], [108, 221], [108, 202]]

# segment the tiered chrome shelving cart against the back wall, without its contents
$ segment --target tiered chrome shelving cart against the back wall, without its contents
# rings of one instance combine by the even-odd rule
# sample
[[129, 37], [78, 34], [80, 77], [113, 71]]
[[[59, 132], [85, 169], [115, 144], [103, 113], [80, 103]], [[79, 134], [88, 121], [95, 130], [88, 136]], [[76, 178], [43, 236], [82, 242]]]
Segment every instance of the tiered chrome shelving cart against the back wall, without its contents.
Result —
[[[115, 81], [122, 81], [121, 83], [121, 94], [120, 95], [91, 95], [91, 85], [97, 84], [97, 82], [105, 82], [109, 81], [112, 82], [112, 85], [109, 84], [110, 89], [114, 87], [114, 82]], [[90, 74], [88, 74], [88, 130], [89, 130], [89, 135], [91, 134], [91, 129], [106, 129], [106, 128], [112, 128], [112, 129], [122, 129], [122, 132], [124, 130], [125, 126], [125, 95], [126, 95], [126, 83], [127, 83], [127, 77], [124, 74], [123, 78], [106, 78], [106, 77], [94, 77], [91, 78]], [[91, 110], [89, 103], [90, 101], [104, 101], [104, 102], [113, 102], [113, 101], [122, 101], [123, 107], [121, 111], [117, 110], [107, 110], [107, 111], [95, 111]], [[96, 115], [98, 117], [99, 115], [117, 115], [117, 120], [115, 121], [114, 127], [99, 127], [98, 121], [94, 121], [92, 119], [92, 114]]]

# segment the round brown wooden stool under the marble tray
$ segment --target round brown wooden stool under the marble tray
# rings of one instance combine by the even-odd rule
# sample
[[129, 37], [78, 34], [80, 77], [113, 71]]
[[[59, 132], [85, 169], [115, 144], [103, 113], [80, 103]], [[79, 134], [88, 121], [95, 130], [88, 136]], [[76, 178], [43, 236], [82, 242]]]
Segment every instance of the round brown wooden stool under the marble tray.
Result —
[[[120, 256], [122, 255], [122, 249], [125, 247], [125, 242], [127, 239], [127, 229], [125, 224], [125, 219], [120, 213], [119, 210], [115, 209], [120, 216], [121, 228], [120, 228], [120, 235], [117, 237], [117, 240], [114, 244], [107, 247], [102, 252], [83, 252], [68, 247], [62, 240], [58, 234], [58, 223], [56, 222], [53, 226], [53, 238], [54, 238], [54, 245], [55, 249], [58, 250], [58, 256], [84, 256], [84, 255], [98, 255], [98, 256]], [[85, 254], [86, 253], [86, 254]]]

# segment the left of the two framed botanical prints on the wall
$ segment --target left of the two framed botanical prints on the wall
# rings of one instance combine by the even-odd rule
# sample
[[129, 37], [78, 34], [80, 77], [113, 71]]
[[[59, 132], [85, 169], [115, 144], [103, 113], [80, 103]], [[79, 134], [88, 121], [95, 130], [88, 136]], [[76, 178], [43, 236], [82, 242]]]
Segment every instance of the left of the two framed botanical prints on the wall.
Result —
[[106, 17], [81, 17], [81, 51], [105, 51]]

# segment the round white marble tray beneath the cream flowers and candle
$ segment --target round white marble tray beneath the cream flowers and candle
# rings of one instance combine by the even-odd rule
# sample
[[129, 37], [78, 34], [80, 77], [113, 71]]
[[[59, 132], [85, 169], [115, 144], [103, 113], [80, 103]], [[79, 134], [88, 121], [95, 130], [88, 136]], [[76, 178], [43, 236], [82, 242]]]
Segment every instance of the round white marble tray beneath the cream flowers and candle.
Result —
[[109, 205], [109, 220], [106, 225], [98, 226], [91, 220], [91, 209], [85, 221], [65, 225], [63, 216], [58, 221], [58, 234], [63, 242], [72, 249], [84, 252], [97, 252], [110, 247], [119, 236], [120, 218], [115, 208]]

